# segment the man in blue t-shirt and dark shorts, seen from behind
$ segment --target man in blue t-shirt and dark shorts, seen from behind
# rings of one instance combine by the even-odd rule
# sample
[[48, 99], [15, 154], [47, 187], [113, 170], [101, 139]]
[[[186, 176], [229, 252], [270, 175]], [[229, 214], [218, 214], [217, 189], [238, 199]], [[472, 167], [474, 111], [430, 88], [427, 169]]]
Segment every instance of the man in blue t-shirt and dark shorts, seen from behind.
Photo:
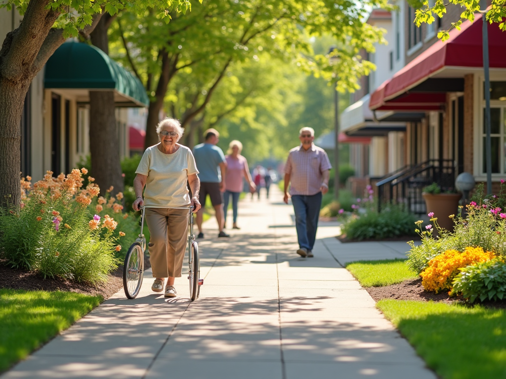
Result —
[[230, 237], [229, 234], [223, 231], [223, 196], [225, 191], [225, 169], [227, 168], [227, 161], [223, 151], [216, 146], [220, 133], [216, 129], [210, 128], [204, 132], [205, 141], [193, 148], [193, 156], [197, 164], [198, 177], [200, 179], [200, 194], [199, 202], [202, 208], [197, 212], [197, 238], [203, 238], [202, 232], [202, 216], [203, 207], [207, 194], [211, 199], [211, 204], [215, 208], [216, 221], [218, 221], [218, 228], [220, 233], [219, 237]]

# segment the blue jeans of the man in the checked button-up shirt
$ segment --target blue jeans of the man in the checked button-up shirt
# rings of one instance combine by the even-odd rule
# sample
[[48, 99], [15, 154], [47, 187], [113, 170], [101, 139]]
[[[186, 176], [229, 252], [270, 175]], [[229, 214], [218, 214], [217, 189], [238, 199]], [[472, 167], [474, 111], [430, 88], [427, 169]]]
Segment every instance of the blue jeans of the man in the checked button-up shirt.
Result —
[[316, 240], [316, 228], [320, 216], [321, 192], [316, 195], [293, 195], [291, 203], [295, 211], [295, 227], [299, 247], [313, 250]]

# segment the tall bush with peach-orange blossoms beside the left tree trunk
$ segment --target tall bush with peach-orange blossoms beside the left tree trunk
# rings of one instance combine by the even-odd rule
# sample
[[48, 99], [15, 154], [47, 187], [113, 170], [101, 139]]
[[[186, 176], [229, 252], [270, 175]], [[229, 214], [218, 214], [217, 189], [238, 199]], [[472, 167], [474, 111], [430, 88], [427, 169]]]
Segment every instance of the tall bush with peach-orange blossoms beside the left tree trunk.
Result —
[[82, 188], [87, 173], [74, 169], [55, 178], [48, 171], [33, 184], [23, 178], [20, 208], [0, 209], [0, 258], [44, 277], [103, 281], [116, 267], [119, 230], [110, 216], [90, 212], [100, 188], [91, 177]]

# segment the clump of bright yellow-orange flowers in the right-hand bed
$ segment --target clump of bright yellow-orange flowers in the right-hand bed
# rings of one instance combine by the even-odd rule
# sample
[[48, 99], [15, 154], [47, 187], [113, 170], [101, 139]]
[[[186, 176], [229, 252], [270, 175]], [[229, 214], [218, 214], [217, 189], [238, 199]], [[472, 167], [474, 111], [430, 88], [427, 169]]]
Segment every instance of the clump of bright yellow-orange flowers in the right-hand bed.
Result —
[[494, 254], [482, 248], [467, 247], [463, 252], [447, 250], [429, 261], [428, 267], [420, 272], [421, 284], [426, 291], [438, 293], [452, 288], [453, 278], [464, 268], [476, 263], [487, 262]]

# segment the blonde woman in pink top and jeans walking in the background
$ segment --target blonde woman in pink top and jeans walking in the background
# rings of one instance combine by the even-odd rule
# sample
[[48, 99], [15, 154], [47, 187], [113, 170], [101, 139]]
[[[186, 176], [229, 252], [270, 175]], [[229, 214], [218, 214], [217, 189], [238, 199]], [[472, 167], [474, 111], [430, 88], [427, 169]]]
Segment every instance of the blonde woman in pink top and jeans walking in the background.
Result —
[[227, 174], [225, 175], [225, 194], [224, 194], [224, 210], [225, 210], [225, 225], [227, 224], [227, 210], [230, 196], [232, 196], [232, 210], [234, 215], [233, 229], [239, 229], [237, 226], [237, 203], [239, 195], [242, 192], [243, 184], [242, 179], [246, 178], [249, 183], [249, 191], [255, 192], [255, 183], [251, 180], [249, 174], [248, 163], [246, 158], [241, 155], [242, 144], [238, 140], [230, 142], [227, 151]]

